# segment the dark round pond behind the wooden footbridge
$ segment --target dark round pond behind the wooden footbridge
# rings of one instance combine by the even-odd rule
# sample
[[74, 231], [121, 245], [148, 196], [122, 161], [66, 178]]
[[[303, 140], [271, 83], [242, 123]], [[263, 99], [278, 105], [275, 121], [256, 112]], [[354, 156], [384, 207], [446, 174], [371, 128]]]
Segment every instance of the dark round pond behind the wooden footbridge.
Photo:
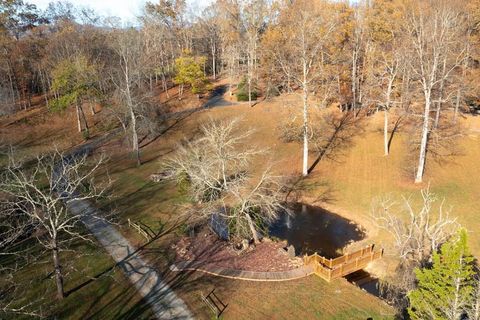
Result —
[[342, 255], [342, 249], [365, 237], [354, 222], [320, 207], [296, 204], [294, 214], [284, 214], [269, 228], [270, 236], [287, 240], [297, 255], [318, 254], [326, 258]]

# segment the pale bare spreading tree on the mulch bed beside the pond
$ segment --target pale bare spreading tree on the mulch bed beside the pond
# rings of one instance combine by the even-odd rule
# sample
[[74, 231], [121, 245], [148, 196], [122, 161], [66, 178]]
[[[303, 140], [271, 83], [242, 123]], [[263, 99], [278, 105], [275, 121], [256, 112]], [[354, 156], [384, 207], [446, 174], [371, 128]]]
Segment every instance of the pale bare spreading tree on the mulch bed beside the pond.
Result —
[[239, 129], [240, 120], [210, 120], [201, 136], [185, 142], [165, 164], [167, 176], [187, 183], [197, 205], [190, 214], [196, 219], [219, 212], [233, 225], [235, 235], [250, 235], [259, 241], [261, 225], [275, 220], [282, 204], [282, 177], [267, 166], [260, 175], [253, 171], [255, 156], [265, 155], [246, 147], [252, 131]]

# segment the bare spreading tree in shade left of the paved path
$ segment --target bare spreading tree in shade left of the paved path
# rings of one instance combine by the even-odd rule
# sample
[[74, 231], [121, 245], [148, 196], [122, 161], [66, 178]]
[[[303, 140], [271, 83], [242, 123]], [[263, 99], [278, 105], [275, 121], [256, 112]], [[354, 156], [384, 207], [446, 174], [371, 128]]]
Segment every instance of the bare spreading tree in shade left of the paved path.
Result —
[[6, 250], [20, 237], [33, 235], [52, 254], [59, 299], [65, 296], [60, 251], [73, 239], [88, 240], [79, 230], [82, 217], [72, 214], [68, 205], [105, 194], [106, 186], [94, 183], [94, 173], [103, 162], [103, 157], [89, 163], [86, 154], [66, 156], [55, 151], [28, 166], [11, 156], [2, 172], [0, 191], [6, 200], [1, 221], [9, 228], [0, 229], [1, 246]]

